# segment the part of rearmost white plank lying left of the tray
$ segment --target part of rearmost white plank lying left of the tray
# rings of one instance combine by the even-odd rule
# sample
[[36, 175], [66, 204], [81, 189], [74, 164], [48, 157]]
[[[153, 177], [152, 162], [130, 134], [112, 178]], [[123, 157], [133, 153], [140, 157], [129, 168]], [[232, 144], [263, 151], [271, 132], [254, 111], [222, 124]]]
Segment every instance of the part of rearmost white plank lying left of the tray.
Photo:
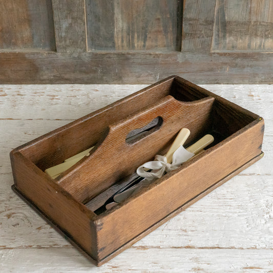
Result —
[[0, 118], [74, 120], [144, 87], [146, 85], [0, 85]]

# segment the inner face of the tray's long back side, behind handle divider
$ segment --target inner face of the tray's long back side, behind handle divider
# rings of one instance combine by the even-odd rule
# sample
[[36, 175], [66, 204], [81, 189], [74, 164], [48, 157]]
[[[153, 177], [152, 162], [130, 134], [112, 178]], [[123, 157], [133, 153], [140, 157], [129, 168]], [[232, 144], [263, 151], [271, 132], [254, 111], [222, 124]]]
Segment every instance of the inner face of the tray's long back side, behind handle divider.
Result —
[[110, 124], [165, 97], [170, 93], [173, 77], [163, 79], [17, 149], [22, 150], [26, 157], [44, 171], [99, 142]]

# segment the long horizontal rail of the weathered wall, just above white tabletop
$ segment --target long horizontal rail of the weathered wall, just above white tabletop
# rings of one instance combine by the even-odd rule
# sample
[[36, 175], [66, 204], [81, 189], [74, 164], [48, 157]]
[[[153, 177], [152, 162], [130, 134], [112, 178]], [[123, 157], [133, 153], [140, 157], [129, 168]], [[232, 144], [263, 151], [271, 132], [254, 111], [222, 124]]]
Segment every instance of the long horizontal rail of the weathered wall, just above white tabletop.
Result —
[[199, 84], [273, 82], [271, 53], [0, 53], [0, 62], [2, 84], [139, 84], [172, 74]]

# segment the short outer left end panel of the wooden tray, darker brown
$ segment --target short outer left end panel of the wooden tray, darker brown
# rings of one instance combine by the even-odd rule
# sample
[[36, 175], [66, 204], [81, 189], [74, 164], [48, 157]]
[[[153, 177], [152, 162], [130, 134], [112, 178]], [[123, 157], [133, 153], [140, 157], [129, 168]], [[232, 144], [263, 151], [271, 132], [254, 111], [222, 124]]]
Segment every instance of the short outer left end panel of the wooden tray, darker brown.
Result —
[[97, 259], [94, 214], [75, 201], [19, 152], [11, 152], [16, 190], [24, 195], [71, 240]]

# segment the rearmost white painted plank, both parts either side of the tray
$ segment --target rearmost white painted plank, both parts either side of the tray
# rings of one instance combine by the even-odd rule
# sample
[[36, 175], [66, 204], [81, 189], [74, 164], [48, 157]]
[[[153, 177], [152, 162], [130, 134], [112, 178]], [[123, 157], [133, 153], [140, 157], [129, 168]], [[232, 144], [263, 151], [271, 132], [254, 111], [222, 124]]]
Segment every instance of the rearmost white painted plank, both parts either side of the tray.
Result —
[[[0, 85], [0, 118], [74, 120], [147, 85]], [[273, 119], [273, 85], [200, 85]], [[262, 102], [262, 103], [261, 103]]]

